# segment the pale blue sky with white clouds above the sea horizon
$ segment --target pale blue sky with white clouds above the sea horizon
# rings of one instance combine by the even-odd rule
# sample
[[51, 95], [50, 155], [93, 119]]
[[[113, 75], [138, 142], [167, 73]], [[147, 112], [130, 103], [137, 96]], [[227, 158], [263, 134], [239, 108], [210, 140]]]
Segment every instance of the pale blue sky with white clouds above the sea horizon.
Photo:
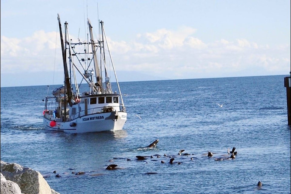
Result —
[[63, 84], [71, 37], [104, 22], [119, 82], [288, 75], [290, 0], [1, 0], [1, 87]]

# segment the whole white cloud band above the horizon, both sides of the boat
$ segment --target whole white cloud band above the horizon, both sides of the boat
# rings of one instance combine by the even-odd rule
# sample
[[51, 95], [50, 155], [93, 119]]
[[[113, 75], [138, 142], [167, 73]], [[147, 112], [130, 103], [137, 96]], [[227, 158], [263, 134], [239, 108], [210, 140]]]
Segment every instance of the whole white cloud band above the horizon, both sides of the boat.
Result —
[[[223, 38], [206, 44], [195, 32], [194, 28], [181, 27], [137, 34], [129, 42], [107, 39], [117, 71], [136, 71], [168, 79], [247, 76], [246, 72], [274, 75], [290, 71], [289, 44], [272, 48], [242, 38], [235, 41]], [[62, 71], [59, 42], [57, 32], [38, 31], [22, 39], [1, 36], [1, 74]]]

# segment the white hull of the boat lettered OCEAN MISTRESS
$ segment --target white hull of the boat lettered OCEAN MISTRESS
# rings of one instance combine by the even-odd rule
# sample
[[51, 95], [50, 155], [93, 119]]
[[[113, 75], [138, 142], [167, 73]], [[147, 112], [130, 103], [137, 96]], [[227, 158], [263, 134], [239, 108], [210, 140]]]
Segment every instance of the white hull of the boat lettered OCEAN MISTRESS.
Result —
[[43, 117], [46, 130], [66, 133], [86, 133], [122, 130], [127, 119], [126, 112], [103, 112], [81, 116], [71, 121], [61, 122]]

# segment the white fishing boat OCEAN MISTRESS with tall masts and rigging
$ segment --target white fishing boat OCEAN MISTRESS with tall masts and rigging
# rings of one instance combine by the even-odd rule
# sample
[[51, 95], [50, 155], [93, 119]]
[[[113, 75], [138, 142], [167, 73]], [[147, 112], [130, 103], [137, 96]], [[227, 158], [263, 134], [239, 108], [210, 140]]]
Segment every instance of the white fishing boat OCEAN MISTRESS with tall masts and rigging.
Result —
[[[47, 95], [43, 99], [45, 129], [67, 133], [122, 130], [127, 119], [127, 112], [108, 48], [103, 22], [99, 21], [97, 42], [94, 41], [89, 19], [87, 24], [90, 36], [87, 36], [87, 40], [81, 41], [78, 38], [75, 42], [70, 39], [67, 22], [64, 24], [65, 39], [63, 39], [59, 14], [58, 22], [64, 85], [56, 88], [52, 95]], [[107, 58], [105, 53], [108, 54]], [[112, 91], [109, 73], [114, 74], [117, 84], [115, 88], [118, 92]], [[78, 79], [81, 81], [77, 82]]]

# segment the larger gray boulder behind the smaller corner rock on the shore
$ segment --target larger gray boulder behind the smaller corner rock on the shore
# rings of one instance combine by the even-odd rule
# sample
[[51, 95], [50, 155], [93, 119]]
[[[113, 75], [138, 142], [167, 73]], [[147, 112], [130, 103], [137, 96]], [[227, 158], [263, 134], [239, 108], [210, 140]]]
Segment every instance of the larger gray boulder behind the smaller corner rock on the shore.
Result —
[[46, 182], [40, 172], [35, 171], [31, 168], [20, 166], [16, 163], [7, 163], [1, 161], [1, 173], [7, 181], [10, 180], [17, 183], [22, 193], [59, 194], [58, 192], [55, 192], [53, 189], [50, 188], [49, 184]]

